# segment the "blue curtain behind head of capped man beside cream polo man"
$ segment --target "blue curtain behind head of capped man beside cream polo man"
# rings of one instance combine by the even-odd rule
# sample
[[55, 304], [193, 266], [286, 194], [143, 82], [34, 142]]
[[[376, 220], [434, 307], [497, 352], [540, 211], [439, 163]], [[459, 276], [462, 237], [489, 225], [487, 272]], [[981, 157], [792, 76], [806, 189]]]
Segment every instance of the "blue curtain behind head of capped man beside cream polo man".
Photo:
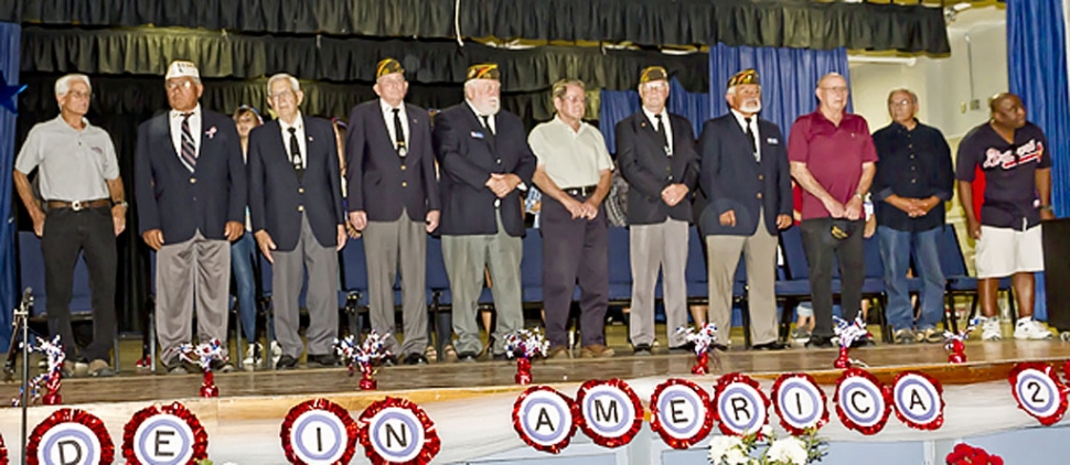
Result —
[[[706, 94], [688, 93], [675, 78], [668, 82], [668, 111], [681, 115], [691, 121], [695, 138], [709, 119], [709, 97]], [[616, 127], [620, 120], [632, 116], [640, 109], [638, 90], [602, 90], [599, 97], [598, 127], [606, 137], [609, 153], [617, 153]]]

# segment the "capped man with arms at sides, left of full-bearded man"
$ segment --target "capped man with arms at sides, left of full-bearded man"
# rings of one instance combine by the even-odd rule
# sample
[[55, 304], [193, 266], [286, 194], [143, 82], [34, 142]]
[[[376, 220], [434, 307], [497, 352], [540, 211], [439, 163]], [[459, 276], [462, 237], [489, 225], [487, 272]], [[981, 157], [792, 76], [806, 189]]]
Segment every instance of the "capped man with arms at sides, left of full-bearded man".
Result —
[[[350, 223], [364, 230], [372, 328], [406, 365], [427, 364], [424, 285], [427, 234], [438, 227], [438, 180], [427, 110], [405, 104], [408, 83], [394, 58], [376, 66], [379, 96], [353, 107], [345, 173]], [[405, 344], [394, 337], [394, 280], [400, 271]], [[396, 363], [393, 358], [387, 363]]]

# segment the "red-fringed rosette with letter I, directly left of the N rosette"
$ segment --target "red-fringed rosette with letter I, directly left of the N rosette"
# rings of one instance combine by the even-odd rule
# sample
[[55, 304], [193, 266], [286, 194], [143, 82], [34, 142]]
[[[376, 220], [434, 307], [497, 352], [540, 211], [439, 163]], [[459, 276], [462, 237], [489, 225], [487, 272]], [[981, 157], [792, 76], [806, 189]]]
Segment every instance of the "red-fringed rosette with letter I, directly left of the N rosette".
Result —
[[[318, 442], [325, 442], [325, 446], [318, 443], [317, 450], [309, 450], [300, 441], [309, 428], [328, 431], [327, 441], [322, 441], [322, 434], [317, 434]], [[297, 442], [295, 436], [299, 439]], [[291, 464], [308, 465], [306, 458], [315, 463], [347, 464], [356, 454], [357, 425], [342, 405], [327, 399], [312, 399], [290, 409], [282, 420], [279, 437], [286, 459]]]

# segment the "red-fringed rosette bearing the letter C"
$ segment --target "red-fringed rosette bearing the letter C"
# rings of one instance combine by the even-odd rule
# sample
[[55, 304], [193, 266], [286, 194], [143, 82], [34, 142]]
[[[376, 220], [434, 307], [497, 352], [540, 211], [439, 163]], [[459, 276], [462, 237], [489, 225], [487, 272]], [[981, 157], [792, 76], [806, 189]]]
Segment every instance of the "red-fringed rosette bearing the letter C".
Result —
[[[836, 415], [849, 430], [871, 436], [885, 429], [891, 415], [891, 392], [877, 377], [847, 368], [836, 381]], [[844, 407], [846, 405], [846, 407]]]

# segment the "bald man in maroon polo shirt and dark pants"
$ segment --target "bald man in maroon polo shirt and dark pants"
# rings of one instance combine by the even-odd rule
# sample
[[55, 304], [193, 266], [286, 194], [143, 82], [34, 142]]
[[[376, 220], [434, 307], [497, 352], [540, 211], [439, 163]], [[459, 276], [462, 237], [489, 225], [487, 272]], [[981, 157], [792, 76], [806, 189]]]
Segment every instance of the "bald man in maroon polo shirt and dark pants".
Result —
[[[820, 105], [791, 126], [788, 160], [803, 188], [802, 238], [810, 263], [814, 332], [806, 346], [832, 346], [832, 268], [839, 260], [844, 320], [854, 321], [866, 275], [863, 201], [876, 173], [877, 150], [866, 119], [846, 112], [847, 79], [828, 73], [817, 80]], [[859, 338], [855, 345], [871, 345]]]

